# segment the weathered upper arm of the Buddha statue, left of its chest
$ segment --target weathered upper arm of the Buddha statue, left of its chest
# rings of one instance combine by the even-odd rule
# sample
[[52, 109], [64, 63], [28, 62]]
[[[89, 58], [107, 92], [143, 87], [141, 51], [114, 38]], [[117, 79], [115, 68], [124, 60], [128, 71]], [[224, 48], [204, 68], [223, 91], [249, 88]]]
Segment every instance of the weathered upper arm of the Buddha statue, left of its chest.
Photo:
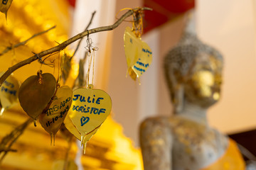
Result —
[[148, 118], [140, 127], [145, 170], [171, 170], [172, 137], [166, 118]]

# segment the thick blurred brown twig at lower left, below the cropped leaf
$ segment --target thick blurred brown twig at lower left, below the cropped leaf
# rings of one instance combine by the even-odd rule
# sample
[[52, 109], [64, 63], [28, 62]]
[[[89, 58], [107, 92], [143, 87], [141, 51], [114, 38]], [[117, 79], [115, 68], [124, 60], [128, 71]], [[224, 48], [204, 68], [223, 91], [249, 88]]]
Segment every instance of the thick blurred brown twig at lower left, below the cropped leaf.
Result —
[[11, 146], [18, 140], [18, 137], [20, 137], [24, 130], [28, 127], [29, 123], [32, 123], [33, 119], [28, 118], [26, 122], [22, 123], [18, 127], [16, 127], [13, 131], [9, 133], [9, 135], [6, 135], [0, 143], [0, 151], [4, 152], [4, 154], [0, 158], [0, 164], [3, 161], [4, 157], [9, 151], [14, 151], [14, 149], [11, 149]]

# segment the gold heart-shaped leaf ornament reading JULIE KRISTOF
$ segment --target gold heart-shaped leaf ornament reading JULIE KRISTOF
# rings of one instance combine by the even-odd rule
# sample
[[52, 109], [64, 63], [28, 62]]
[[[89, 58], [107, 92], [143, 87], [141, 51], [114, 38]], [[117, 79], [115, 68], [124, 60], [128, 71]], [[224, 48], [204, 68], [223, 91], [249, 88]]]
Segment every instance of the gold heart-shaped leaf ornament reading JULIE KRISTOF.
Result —
[[[92, 88], [73, 91], [73, 103], [64, 123], [66, 128], [81, 140], [84, 152], [86, 142], [106, 120], [111, 107], [111, 98], [105, 91]], [[73, 125], [70, 125], [70, 121]]]

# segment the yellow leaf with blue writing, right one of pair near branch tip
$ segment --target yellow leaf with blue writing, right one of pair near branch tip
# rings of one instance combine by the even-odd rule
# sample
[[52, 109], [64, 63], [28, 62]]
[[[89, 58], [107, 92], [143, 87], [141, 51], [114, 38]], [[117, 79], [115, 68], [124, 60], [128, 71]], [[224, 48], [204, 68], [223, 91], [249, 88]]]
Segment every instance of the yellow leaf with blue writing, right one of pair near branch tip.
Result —
[[149, 45], [146, 44], [146, 42], [142, 41], [142, 54], [139, 56], [139, 59], [137, 60], [137, 62], [132, 66], [132, 70], [134, 71], [135, 74], [137, 74], [137, 77], [140, 77], [144, 72], [146, 72], [146, 69], [149, 68], [149, 65], [151, 64], [151, 62], [152, 62], [151, 49]]

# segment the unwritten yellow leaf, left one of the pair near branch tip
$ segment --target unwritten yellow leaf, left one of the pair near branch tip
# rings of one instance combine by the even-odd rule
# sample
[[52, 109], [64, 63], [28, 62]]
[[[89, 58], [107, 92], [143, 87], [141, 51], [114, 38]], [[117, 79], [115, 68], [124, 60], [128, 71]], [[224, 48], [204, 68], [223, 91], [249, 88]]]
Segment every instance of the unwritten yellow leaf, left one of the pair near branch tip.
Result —
[[137, 38], [129, 27], [124, 31], [124, 52], [128, 69], [139, 60], [142, 54], [142, 40]]

